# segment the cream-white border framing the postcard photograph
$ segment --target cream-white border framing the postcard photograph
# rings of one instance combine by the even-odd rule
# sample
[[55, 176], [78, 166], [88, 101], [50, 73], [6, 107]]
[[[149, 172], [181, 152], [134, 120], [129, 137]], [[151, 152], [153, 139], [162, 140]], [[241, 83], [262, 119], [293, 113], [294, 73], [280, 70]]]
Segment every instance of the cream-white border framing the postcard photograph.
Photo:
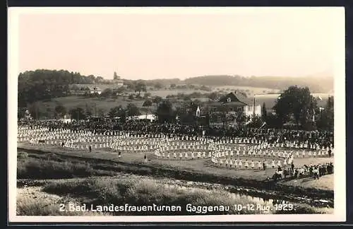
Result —
[[16, 216], [16, 165], [17, 165], [17, 83], [18, 83], [18, 17], [22, 13], [265, 13], [273, 7], [144, 7], [144, 8], [8, 8], [8, 220], [19, 222], [330, 222], [346, 220], [346, 170], [345, 170], [345, 8], [344, 7], [277, 7], [281, 11], [293, 9], [336, 11], [343, 26], [337, 26], [335, 47], [335, 210], [333, 214], [308, 215], [241, 215], [241, 216]]

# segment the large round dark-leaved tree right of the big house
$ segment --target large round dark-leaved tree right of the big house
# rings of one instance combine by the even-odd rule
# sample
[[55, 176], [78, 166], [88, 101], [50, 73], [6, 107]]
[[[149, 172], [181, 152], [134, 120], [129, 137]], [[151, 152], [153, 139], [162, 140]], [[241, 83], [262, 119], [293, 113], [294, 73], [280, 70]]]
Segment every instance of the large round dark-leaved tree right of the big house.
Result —
[[306, 122], [309, 122], [315, 108], [316, 102], [313, 100], [309, 88], [297, 86], [290, 86], [285, 90], [273, 107], [282, 124], [294, 117], [297, 126], [304, 126]]

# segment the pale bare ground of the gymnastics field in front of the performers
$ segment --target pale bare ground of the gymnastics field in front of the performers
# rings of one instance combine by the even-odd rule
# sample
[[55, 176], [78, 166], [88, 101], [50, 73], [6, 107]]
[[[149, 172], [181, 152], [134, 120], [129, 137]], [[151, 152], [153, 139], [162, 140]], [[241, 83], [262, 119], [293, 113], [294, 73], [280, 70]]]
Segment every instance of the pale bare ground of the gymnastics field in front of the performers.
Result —
[[[231, 180], [252, 180], [253, 182], [264, 181], [267, 177], [272, 177], [275, 172], [275, 169], [268, 168], [265, 171], [263, 170], [231, 170], [228, 168], [218, 168], [210, 162], [210, 159], [197, 159], [197, 160], [174, 160], [174, 159], [164, 159], [157, 158], [152, 153], [148, 153], [148, 164], [144, 165], [143, 155], [145, 153], [122, 153], [121, 158], [117, 157], [117, 153], [109, 151], [107, 149], [94, 149], [92, 152], [88, 150], [68, 150], [65, 148], [59, 147], [48, 147], [41, 148], [37, 146], [30, 146], [29, 144], [18, 144], [20, 148], [28, 148], [33, 150], [44, 150], [49, 152], [60, 153], [62, 155], [73, 155], [79, 158], [95, 158], [102, 160], [109, 160], [115, 163], [124, 163], [124, 164], [133, 164], [138, 165], [138, 168], [142, 172], [148, 173], [151, 172], [150, 168], [162, 168], [162, 169], [172, 169], [176, 171], [189, 171], [196, 172], [200, 175], [210, 175], [215, 177], [227, 177]], [[241, 157], [243, 160], [263, 160], [264, 158], [251, 158], [251, 157]], [[329, 163], [333, 162], [333, 158], [295, 158], [294, 164], [298, 167], [301, 165], [314, 165], [318, 163]], [[149, 170], [149, 171], [148, 171]], [[311, 185], [312, 182], [315, 182], [315, 185]], [[287, 184], [283, 182], [283, 184]], [[313, 179], [298, 180], [297, 182], [289, 182], [291, 186], [295, 187], [314, 187], [316, 189], [333, 191], [333, 176], [325, 180], [315, 181]]]

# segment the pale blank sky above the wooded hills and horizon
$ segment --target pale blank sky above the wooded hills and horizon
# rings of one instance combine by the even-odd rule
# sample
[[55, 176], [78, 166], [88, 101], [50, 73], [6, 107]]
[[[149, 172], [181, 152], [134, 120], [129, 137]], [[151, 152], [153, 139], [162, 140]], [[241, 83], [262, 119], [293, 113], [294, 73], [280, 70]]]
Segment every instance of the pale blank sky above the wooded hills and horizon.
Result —
[[65, 69], [113, 78], [116, 71], [128, 79], [311, 76], [330, 74], [337, 45], [345, 42], [339, 37], [342, 8], [11, 11], [10, 21], [18, 17], [20, 72]]

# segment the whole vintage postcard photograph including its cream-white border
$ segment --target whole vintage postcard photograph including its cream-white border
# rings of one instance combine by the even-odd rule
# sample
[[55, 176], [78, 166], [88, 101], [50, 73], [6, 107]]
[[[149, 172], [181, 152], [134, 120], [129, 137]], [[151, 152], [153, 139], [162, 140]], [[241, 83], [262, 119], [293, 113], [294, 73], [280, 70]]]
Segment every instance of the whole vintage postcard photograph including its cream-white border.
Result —
[[345, 221], [344, 8], [11, 7], [8, 45], [10, 220]]

